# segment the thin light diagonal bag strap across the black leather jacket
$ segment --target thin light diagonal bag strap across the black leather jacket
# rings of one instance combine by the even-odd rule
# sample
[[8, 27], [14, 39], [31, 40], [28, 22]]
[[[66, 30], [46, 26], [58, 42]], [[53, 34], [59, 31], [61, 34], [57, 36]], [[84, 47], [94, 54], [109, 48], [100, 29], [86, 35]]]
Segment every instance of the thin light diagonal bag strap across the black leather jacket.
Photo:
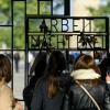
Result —
[[98, 108], [98, 110], [101, 110], [98, 102], [95, 100], [95, 98], [90, 95], [90, 92], [78, 81], [76, 80], [76, 84], [78, 84], [80, 86], [80, 88], [89, 96], [89, 98], [92, 100], [92, 102], [95, 103], [95, 106]]

